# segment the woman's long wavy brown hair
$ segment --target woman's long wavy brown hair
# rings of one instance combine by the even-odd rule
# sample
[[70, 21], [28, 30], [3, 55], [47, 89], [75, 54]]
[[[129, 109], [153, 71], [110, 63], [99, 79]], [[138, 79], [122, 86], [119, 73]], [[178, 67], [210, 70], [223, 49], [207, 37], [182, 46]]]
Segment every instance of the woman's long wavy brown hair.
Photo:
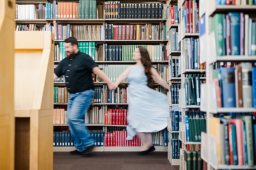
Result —
[[141, 62], [144, 66], [145, 69], [145, 74], [148, 77], [148, 87], [153, 88], [153, 78], [152, 78], [152, 73], [151, 73], [151, 68], [152, 68], [152, 63], [150, 61], [149, 55], [148, 55], [148, 51], [146, 50], [146, 48], [139, 46], [138, 47], [141, 53]]

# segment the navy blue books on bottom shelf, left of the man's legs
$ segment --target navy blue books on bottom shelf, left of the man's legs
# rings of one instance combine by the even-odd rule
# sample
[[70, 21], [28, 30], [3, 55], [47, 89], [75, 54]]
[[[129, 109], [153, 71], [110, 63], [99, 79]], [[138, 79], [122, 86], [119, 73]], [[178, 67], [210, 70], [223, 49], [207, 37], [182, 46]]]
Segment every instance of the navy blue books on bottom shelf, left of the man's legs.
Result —
[[54, 147], [67, 147], [75, 146], [71, 132], [53, 132], [53, 146]]

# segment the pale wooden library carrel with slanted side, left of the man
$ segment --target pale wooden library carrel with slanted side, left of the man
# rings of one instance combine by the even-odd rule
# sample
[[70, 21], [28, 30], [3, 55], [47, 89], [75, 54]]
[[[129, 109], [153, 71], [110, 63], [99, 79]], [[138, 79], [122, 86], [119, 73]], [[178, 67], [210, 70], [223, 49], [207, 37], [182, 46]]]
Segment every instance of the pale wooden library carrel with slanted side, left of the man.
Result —
[[53, 168], [53, 34], [15, 31], [15, 169]]

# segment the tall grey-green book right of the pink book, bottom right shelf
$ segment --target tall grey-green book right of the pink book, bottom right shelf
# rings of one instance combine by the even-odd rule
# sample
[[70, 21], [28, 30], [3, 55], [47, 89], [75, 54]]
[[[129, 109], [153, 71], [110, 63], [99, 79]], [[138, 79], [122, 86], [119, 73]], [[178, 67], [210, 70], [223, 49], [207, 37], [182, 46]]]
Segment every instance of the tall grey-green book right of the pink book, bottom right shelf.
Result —
[[245, 133], [247, 141], [247, 160], [248, 165], [254, 165], [254, 153], [253, 153], [253, 131], [252, 131], [252, 121], [251, 116], [236, 116], [237, 119], [243, 120], [245, 123]]

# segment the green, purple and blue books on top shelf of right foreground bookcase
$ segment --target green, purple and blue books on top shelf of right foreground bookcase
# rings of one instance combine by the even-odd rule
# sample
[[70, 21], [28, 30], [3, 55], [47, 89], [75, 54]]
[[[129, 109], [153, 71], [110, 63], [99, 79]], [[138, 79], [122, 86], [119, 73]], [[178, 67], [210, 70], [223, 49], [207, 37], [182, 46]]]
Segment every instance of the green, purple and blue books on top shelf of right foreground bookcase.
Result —
[[217, 55], [256, 55], [256, 23], [252, 21], [242, 12], [215, 14], [211, 31], [215, 32]]

